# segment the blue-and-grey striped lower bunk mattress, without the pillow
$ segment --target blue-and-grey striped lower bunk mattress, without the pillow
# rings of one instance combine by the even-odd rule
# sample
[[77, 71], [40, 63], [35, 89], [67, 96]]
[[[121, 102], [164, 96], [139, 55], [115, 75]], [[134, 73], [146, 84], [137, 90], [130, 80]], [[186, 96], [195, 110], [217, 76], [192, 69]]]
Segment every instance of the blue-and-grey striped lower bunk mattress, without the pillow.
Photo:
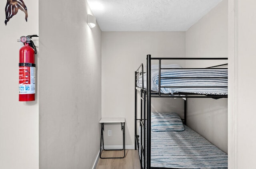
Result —
[[180, 132], [151, 132], [151, 167], [227, 169], [228, 155], [184, 125]]

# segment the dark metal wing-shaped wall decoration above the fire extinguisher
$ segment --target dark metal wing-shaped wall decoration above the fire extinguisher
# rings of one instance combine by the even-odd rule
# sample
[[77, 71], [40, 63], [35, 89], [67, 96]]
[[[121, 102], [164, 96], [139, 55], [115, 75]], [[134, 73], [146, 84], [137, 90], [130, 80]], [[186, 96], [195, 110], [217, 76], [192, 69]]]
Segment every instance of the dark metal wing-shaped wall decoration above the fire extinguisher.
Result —
[[28, 21], [28, 11], [23, 0], [7, 0], [5, 7], [5, 25], [14, 15], [17, 14], [18, 10], [22, 10], [25, 13], [25, 20]]

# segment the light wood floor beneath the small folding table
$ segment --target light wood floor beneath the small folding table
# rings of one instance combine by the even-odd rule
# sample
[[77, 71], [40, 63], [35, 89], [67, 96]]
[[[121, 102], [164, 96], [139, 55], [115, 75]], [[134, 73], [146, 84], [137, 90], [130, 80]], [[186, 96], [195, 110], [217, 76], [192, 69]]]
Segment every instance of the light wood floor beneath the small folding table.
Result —
[[[122, 157], [123, 151], [103, 151], [102, 157]], [[99, 159], [96, 169], [140, 169], [138, 150], [126, 150], [123, 159]]]

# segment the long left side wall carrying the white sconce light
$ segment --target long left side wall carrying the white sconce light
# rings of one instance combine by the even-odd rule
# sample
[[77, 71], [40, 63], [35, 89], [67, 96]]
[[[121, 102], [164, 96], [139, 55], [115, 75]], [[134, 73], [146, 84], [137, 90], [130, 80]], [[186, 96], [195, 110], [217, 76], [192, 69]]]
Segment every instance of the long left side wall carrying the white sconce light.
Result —
[[92, 169], [100, 148], [101, 30], [85, 0], [43, 0], [40, 26], [40, 169]]

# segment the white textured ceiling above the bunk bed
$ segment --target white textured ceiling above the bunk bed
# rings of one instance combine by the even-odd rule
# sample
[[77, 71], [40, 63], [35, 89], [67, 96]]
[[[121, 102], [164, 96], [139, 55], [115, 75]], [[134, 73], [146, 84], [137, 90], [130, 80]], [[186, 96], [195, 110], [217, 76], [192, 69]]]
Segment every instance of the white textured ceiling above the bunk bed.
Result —
[[186, 31], [222, 0], [87, 0], [102, 31]]

